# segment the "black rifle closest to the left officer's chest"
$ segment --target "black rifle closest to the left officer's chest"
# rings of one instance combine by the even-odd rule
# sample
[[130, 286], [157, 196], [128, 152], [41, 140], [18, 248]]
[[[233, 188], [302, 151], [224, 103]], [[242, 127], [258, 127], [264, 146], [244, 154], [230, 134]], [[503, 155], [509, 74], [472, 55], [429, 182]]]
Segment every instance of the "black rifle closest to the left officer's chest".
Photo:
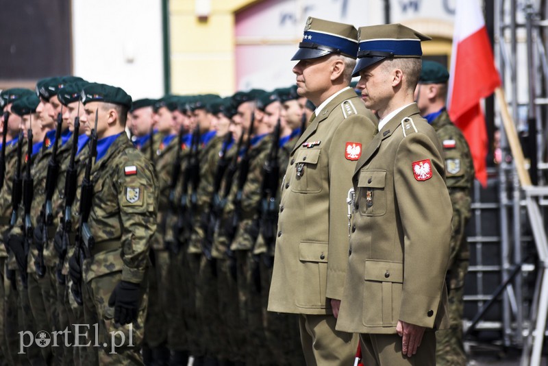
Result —
[[279, 181], [279, 134], [281, 132], [280, 119], [278, 119], [273, 132], [273, 141], [269, 151], [269, 158], [264, 162], [261, 186], [261, 201], [259, 210], [260, 232], [266, 245], [266, 255], [264, 264], [272, 266], [272, 257], [270, 248], [274, 245], [276, 239], [276, 226], [278, 218], [278, 209], [276, 205], [276, 196], [278, 192]]

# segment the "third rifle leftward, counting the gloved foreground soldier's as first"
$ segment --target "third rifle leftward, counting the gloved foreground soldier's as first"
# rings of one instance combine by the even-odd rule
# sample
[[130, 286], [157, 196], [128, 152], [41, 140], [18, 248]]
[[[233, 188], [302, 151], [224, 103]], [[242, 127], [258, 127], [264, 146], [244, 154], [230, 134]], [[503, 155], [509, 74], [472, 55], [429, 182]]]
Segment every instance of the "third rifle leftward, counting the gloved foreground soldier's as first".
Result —
[[[62, 108], [62, 107], [61, 107]], [[46, 175], [46, 201], [40, 212], [41, 220], [38, 220], [38, 225], [42, 225], [42, 243], [36, 243], [38, 249], [38, 256], [34, 262], [36, 268], [36, 274], [42, 278], [45, 275], [46, 267], [44, 264], [44, 247], [47, 245], [47, 228], [53, 225], [53, 204], [51, 199], [53, 193], [55, 193], [55, 185], [57, 184], [57, 177], [59, 175], [59, 162], [57, 161], [57, 151], [59, 149], [59, 140], [61, 139], [63, 117], [62, 111], [57, 114], [57, 130], [55, 130], [55, 142], [51, 150], [51, 157], [47, 163], [47, 175]]]

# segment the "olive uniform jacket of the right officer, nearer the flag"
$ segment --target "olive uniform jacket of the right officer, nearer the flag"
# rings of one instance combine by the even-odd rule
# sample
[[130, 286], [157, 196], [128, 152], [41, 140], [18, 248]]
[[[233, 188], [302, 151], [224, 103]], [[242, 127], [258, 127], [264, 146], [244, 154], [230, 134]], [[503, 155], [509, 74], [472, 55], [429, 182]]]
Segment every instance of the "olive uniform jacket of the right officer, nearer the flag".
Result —
[[415, 103], [356, 165], [347, 278], [337, 330], [392, 334], [398, 320], [447, 328], [451, 202], [442, 147]]

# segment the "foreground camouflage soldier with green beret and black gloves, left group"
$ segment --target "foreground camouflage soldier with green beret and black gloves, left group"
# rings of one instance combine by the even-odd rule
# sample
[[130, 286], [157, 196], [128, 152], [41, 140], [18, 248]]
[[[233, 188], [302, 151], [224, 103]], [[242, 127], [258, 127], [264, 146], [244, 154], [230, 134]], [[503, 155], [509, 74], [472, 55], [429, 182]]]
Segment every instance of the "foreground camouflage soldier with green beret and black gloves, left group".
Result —
[[[90, 362], [142, 364], [146, 272], [156, 229], [158, 183], [149, 160], [124, 131], [131, 97], [121, 88], [94, 83], [82, 90], [82, 103], [82, 123], [92, 125], [96, 116], [98, 121], [88, 219], [95, 244], [82, 263], [79, 256], [71, 256], [70, 275], [73, 282], [82, 283], [86, 321], [98, 322], [98, 359]], [[115, 345], [119, 347], [112, 354]]]

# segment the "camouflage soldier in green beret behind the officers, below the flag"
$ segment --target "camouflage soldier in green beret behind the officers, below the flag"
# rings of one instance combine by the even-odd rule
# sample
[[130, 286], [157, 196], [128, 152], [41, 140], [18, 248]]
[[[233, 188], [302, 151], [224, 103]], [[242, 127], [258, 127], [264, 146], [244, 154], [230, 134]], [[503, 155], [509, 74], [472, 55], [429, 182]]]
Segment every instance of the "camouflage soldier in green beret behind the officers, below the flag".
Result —
[[424, 60], [419, 85], [415, 90], [415, 100], [421, 114], [434, 127], [442, 142], [447, 188], [453, 206], [451, 256], [446, 276], [450, 328], [436, 332], [436, 365], [464, 366], [466, 354], [462, 342], [462, 297], [464, 276], [469, 265], [469, 245], [464, 228], [471, 215], [474, 166], [462, 132], [453, 125], [445, 109], [447, 80], [449, 73], [445, 66]]

